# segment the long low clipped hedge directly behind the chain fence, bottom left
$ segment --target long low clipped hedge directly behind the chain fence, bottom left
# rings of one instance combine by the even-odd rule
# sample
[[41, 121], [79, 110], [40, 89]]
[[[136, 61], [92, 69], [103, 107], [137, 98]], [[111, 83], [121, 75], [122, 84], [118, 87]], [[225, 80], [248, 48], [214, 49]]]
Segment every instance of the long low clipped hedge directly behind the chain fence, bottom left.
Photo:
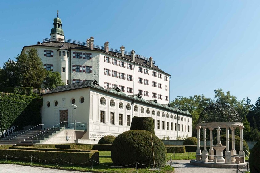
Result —
[[[7, 160], [14, 160], [14, 157], [28, 157], [28, 158], [23, 158], [19, 160], [31, 160], [31, 157], [33, 156], [38, 159], [42, 160], [49, 160], [47, 161], [48, 163], [58, 163], [58, 157], [60, 157], [60, 164], [68, 164], [61, 159], [74, 163], [74, 164], [79, 164], [79, 163], [84, 163], [93, 158], [96, 162], [99, 162], [99, 152], [56, 152], [56, 151], [36, 151], [36, 150], [17, 150], [17, 149], [0, 149], [0, 155], [5, 155], [8, 154], [10, 156], [7, 156]], [[51, 160], [51, 159], [56, 159], [56, 160]], [[35, 158], [32, 159], [33, 161], [39, 161], [36, 160]], [[96, 162], [93, 162], [93, 165], [97, 165]], [[86, 164], [82, 165], [91, 165], [91, 162], [87, 162]]]

